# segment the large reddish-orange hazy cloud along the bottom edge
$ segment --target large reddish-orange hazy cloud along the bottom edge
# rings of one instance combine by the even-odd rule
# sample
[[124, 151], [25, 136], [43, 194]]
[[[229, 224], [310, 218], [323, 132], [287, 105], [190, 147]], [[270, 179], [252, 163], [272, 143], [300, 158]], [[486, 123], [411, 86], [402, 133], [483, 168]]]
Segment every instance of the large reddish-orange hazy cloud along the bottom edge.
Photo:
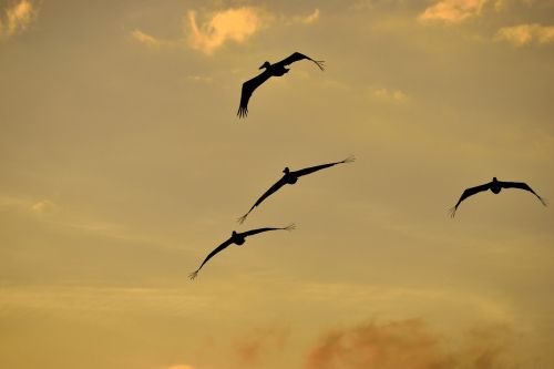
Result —
[[306, 369], [500, 369], [504, 327], [480, 328], [456, 350], [419, 319], [373, 322], [326, 334], [308, 353]]

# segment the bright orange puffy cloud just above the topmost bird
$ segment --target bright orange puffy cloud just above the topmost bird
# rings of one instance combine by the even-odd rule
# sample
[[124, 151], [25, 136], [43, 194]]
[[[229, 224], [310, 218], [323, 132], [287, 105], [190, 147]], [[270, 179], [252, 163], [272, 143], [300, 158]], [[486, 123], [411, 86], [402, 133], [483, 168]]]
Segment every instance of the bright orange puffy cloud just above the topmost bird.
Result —
[[189, 43], [196, 49], [212, 54], [227, 41], [245, 42], [261, 27], [260, 12], [250, 7], [227, 9], [213, 14], [199, 25], [196, 22], [196, 12], [188, 12]]

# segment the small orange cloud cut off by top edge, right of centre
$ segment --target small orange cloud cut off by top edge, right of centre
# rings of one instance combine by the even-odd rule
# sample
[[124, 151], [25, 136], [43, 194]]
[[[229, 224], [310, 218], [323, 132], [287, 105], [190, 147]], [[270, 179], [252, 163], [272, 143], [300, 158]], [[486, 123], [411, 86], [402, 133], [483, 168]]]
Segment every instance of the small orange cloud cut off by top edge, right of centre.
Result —
[[461, 23], [471, 17], [481, 14], [486, 2], [488, 0], [441, 0], [427, 8], [418, 19], [422, 22]]

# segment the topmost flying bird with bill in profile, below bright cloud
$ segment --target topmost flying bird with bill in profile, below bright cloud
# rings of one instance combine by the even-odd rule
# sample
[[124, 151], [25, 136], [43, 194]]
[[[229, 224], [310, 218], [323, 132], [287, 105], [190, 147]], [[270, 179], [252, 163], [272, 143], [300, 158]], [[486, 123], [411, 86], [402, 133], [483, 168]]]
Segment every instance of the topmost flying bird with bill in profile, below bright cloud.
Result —
[[324, 68], [325, 62], [322, 60], [314, 60], [299, 52], [295, 52], [290, 54], [290, 57], [285, 58], [284, 60], [275, 64], [270, 64], [268, 61], [261, 64], [259, 69], [265, 69], [265, 71], [259, 73], [252, 80], [248, 80], [245, 83], [243, 83], [243, 90], [240, 93], [240, 105], [238, 106], [238, 112], [237, 112], [238, 117], [239, 119], [246, 117], [246, 115], [248, 115], [248, 100], [250, 100], [254, 90], [259, 88], [261, 83], [266, 82], [271, 76], [283, 76], [285, 73], [288, 73], [289, 69], [285, 68], [286, 65], [289, 65], [296, 61], [304, 59], [312, 61], [317, 66], [319, 66], [321, 71], [325, 70]]

